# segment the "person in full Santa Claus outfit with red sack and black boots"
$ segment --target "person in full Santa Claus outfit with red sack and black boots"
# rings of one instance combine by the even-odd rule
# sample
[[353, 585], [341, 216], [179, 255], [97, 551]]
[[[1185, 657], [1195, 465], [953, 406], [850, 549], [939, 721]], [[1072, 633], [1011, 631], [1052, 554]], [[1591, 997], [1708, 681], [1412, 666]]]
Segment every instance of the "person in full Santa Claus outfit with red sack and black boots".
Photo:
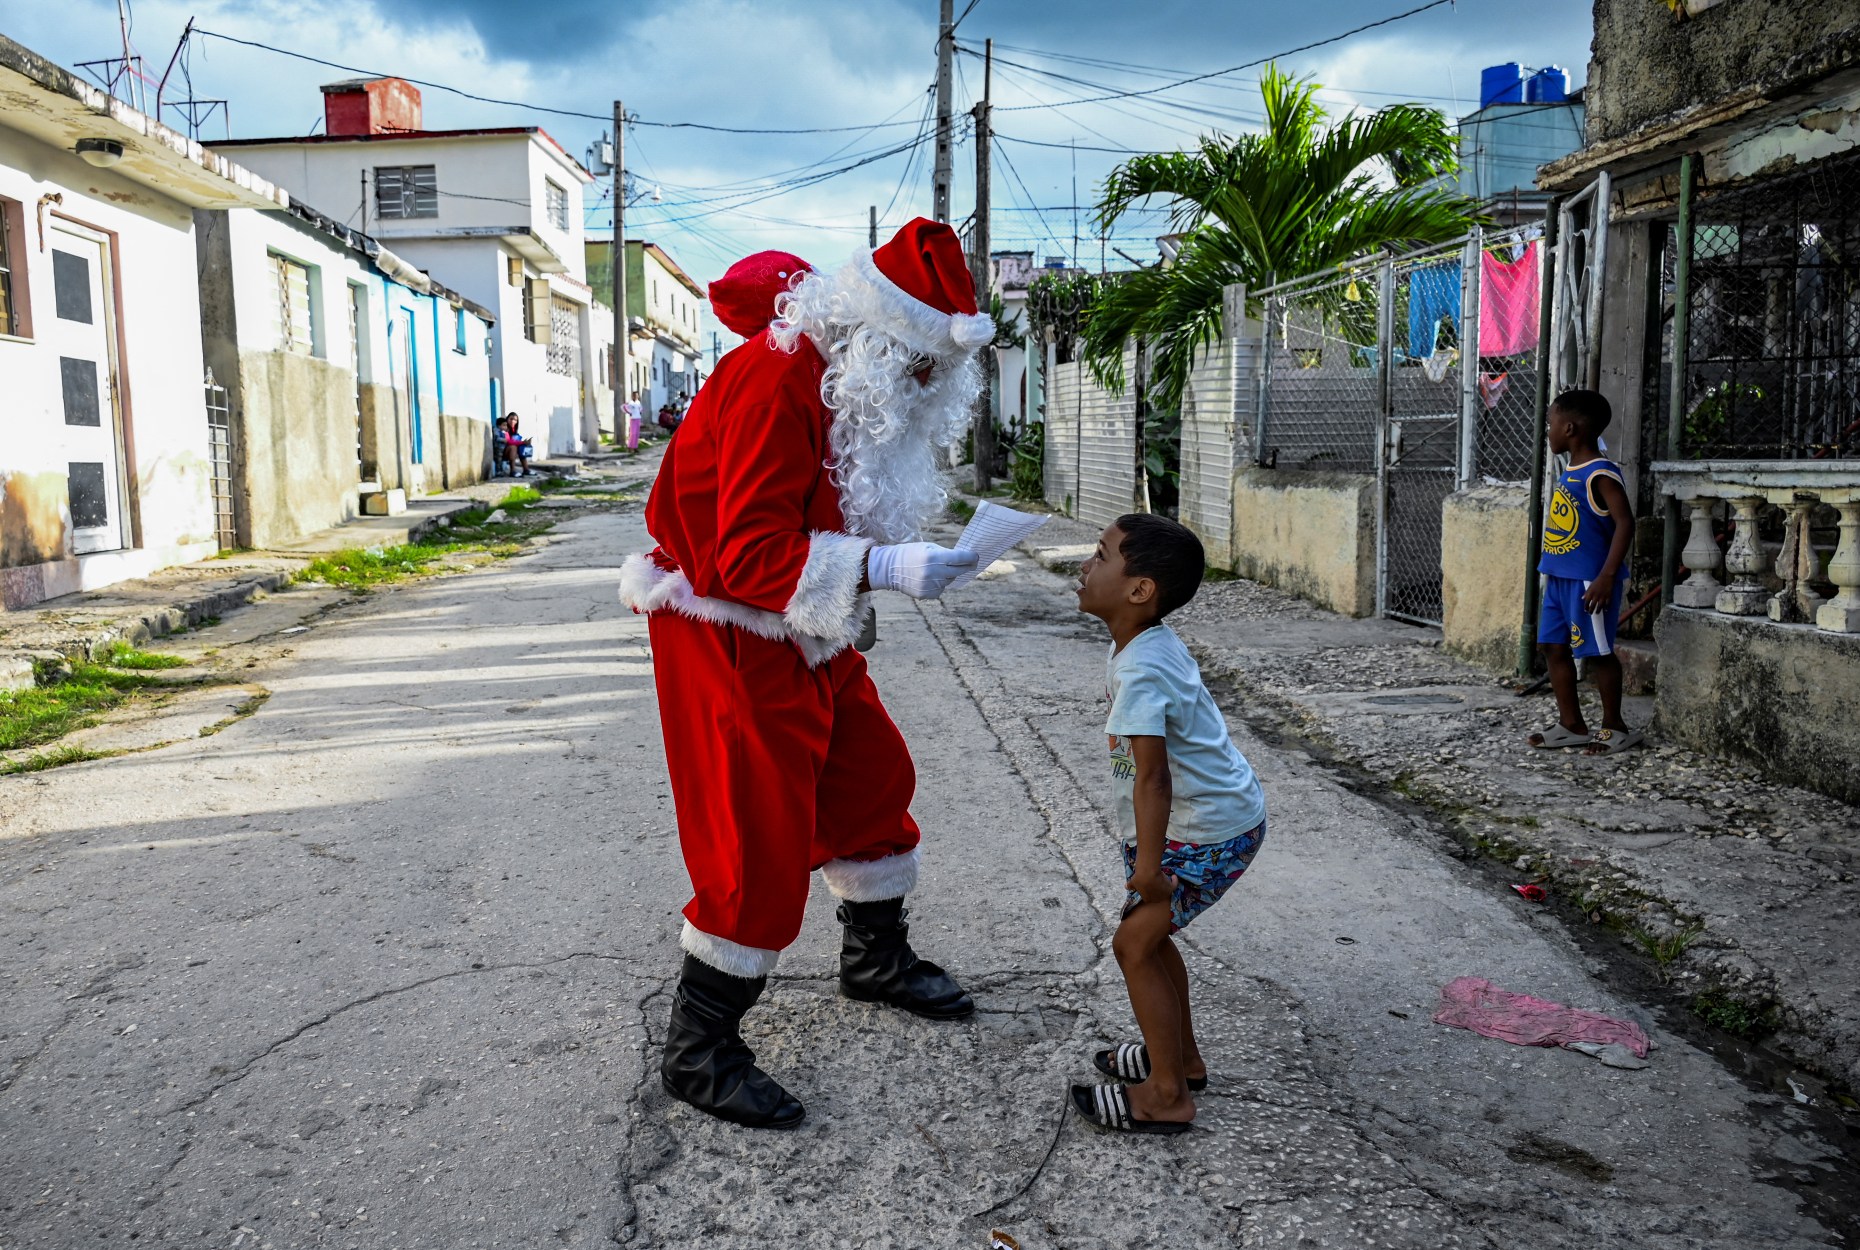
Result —
[[790, 1127], [800, 1101], [740, 1021], [820, 871], [841, 900], [841, 991], [932, 1019], [975, 1010], [908, 941], [917, 785], [854, 649], [870, 592], [936, 597], [971, 552], [917, 539], [937, 448], [965, 426], [993, 339], [954, 231], [917, 219], [839, 272], [785, 253], [711, 285], [748, 340], [666, 450], [621, 599], [649, 614], [679, 843], [692, 880], [662, 1060], [668, 1092]]

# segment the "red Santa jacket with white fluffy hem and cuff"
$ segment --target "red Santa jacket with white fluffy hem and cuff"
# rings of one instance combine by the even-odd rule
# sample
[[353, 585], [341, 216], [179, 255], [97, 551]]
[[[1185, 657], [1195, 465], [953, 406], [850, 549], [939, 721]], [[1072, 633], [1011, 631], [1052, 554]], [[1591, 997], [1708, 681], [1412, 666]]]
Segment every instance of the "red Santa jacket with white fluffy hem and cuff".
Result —
[[621, 569], [634, 612], [671, 610], [792, 640], [809, 664], [865, 618], [865, 551], [828, 471], [826, 361], [757, 335], [718, 361], [666, 448], [645, 504], [658, 549]]

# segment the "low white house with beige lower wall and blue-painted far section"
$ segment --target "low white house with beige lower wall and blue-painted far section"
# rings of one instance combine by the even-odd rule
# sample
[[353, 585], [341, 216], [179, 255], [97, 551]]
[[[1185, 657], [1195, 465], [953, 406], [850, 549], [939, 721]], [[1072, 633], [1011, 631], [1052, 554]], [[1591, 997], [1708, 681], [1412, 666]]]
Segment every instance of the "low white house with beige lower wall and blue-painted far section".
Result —
[[195, 214], [232, 530], [273, 547], [363, 497], [491, 471], [491, 314], [305, 205]]

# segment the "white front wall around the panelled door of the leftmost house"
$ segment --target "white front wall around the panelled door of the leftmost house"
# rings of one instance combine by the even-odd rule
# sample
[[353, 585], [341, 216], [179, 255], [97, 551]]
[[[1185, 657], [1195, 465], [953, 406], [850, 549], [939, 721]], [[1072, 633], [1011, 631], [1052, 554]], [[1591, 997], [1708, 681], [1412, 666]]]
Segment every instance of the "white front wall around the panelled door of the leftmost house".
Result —
[[[63, 389], [43, 342], [52, 312], [52, 251], [37, 240], [39, 199], [115, 242], [123, 454], [130, 521], [123, 551], [73, 556], [65, 499]], [[0, 197], [20, 205], [13, 259], [24, 275], [35, 339], [0, 339], [0, 551], [20, 552], [28, 526], [50, 525], [54, 560], [0, 569], [0, 605], [106, 586], [216, 551], [203, 398], [193, 214], [145, 184], [93, 169], [0, 125]]]

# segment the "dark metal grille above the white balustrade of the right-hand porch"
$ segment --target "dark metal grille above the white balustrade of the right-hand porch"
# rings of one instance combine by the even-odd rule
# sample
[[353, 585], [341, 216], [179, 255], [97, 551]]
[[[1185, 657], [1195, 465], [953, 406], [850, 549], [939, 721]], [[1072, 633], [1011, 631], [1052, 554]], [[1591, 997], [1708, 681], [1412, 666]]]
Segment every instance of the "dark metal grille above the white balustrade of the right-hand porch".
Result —
[[1860, 156], [1702, 199], [1680, 454], [1860, 456]]

